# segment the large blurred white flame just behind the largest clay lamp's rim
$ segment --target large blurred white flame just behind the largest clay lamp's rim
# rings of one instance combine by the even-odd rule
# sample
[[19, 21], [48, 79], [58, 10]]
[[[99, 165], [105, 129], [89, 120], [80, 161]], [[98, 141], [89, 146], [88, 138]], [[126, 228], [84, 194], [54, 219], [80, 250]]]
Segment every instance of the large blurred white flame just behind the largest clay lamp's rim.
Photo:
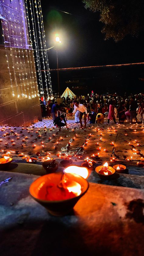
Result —
[[65, 170], [65, 173], [75, 173], [77, 175], [80, 175], [83, 178], [87, 178], [88, 176], [88, 170], [85, 167], [79, 167], [79, 166], [68, 166]]

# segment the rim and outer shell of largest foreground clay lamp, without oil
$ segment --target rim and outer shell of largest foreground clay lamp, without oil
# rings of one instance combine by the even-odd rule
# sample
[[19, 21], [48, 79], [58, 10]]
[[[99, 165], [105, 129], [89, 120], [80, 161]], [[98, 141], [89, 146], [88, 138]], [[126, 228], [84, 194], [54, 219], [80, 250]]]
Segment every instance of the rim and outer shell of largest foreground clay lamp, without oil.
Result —
[[51, 213], [54, 216], [64, 216], [69, 213], [75, 204], [78, 202], [78, 200], [87, 192], [87, 189], [89, 187], [89, 184], [87, 180], [85, 180], [83, 177], [74, 174], [74, 173], [67, 173], [67, 178], [74, 180], [78, 182], [82, 187], [82, 192], [80, 195], [75, 196], [74, 198], [66, 199], [66, 200], [57, 200], [57, 201], [50, 201], [50, 200], [43, 200], [40, 199], [39, 194], [39, 187], [40, 185], [44, 183], [54, 183], [59, 184], [62, 178], [62, 173], [50, 173], [44, 176], [41, 176], [37, 178], [29, 188], [29, 192], [33, 199], [35, 199], [37, 202], [39, 202], [42, 206], [44, 206], [49, 213]]

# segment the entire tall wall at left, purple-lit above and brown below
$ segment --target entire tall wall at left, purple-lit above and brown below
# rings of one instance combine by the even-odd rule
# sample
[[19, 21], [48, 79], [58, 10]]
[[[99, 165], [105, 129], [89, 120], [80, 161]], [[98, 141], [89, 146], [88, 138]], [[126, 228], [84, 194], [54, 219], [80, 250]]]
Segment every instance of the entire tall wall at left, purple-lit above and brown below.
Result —
[[25, 4], [23, 0], [0, 3], [0, 15], [4, 18], [1, 20], [4, 44], [0, 45], [0, 125], [29, 125], [42, 120], [42, 116]]

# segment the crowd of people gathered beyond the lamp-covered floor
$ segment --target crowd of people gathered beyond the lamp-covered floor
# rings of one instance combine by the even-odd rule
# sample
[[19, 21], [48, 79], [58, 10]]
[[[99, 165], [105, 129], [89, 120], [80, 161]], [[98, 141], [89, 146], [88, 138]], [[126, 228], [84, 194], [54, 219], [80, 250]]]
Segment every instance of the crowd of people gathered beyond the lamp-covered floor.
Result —
[[[132, 123], [138, 121], [144, 123], [144, 95], [139, 93], [137, 95], [97, 95], [92, 91], [91, 94], [85, 96], [72, 96], [61, 98], [53, 97], [45, 104], [41, 100], [42, 116], [52, 116], [54, 124], [60, 127], [60, 123], [67, 126], [66, 115], [69, 113], [70, 117], [74, 116], [75, 123], [80, 123], [83, 128], [82, 117], [84, 116], [84, 128], [89, 123], [103, 123], [104, 117], [108, 118], [108, 123], [113, 119], [114, 123], [127, 122]], [[57, 113], [59, 120], [57, 120]], [[61, 117], [61, 119], [60, 119]], [[61, 122], [63, 120], [63, 122]], [[59, 122], [59, 125], [57, 124]], [[63, 125], [62, 125], [63, 126]]]

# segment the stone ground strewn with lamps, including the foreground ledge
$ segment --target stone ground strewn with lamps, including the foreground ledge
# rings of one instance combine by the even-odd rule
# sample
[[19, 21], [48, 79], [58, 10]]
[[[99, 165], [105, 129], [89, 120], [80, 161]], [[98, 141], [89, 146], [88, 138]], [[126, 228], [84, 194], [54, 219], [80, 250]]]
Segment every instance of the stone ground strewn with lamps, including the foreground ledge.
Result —
[[[144, 125], [113, 122], [107, 125], [105, 120], [103, 125], [87, 124], [87, 129], [81, 130], [74, 120], [68, 118], [67, 123], [69, 129], [62, 128], [60, 132], [53, 128], [51, 119], [30, 127], [0, 127], [0, 152], [9, 151], [13, 158], [9, 168], [0, 171], [0, 182], [12, 177], [0, 187], [1, 254], [143, 255], [144, 168], [137, 162], [144, 157]], [[88, 143], [83, 147], [86, 139]], [[133, 154], [133, 149], [140, 151]], [[37, 175], [46, 174], [42, 163], [47, 151], [59, 163], [58, 171], [63, 170], [57, 157], [59, 152], [71, 155], [74, 165], [100, 153], [100, 159], [94, 159], [90, 170], [87, 193], [68, 216], [51, 216], [29, 195], [29, 185]], [[18, 153], [37, 157], [36, 164], [26, 162]], [[117, 163], [110, 162], [111, 156], [116, 157]], [[125, 160], [131, 156], [133, 161]], [[95, 167], [105, 161], [111, 166], [124, 164], [125, 173], [101, 179]]]

